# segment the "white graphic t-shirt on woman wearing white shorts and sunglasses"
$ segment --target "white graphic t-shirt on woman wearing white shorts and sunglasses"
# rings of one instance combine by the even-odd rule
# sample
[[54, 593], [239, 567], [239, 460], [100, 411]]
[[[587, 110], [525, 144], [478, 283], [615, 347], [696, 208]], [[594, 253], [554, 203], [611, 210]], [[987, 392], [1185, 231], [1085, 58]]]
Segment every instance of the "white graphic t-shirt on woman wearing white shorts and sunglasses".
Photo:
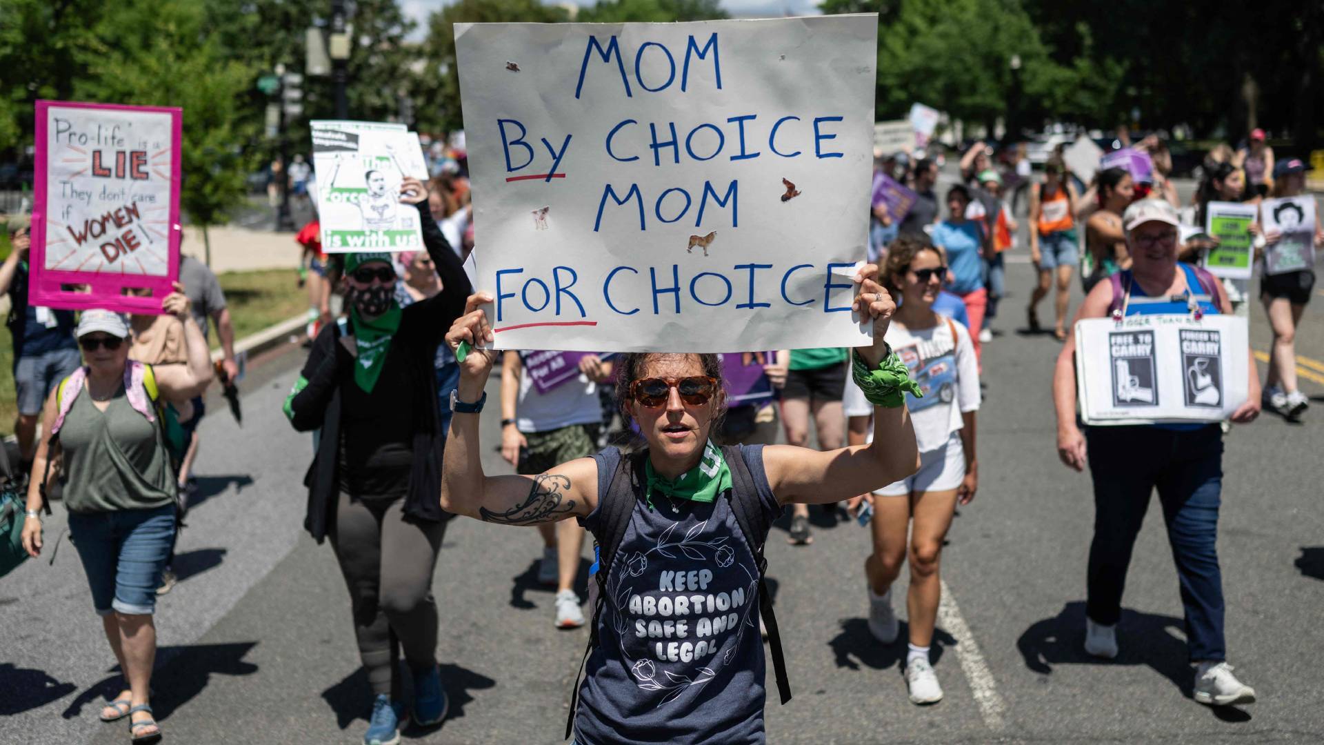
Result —
[[[924, 394], [924, 398], [906, 394], [919, 452], [936, 451], [964, 427], [961, 414], [980, 408], [980, 367], [970, 333], [960, 322], [940, 315], [937, 326], [919, 331], [892, 321], [886, 338]], [[874, 412], [865, 391], [850, 378], [842, 404], [846, 416]], [[873, 431], [869, 436], [873, 440]]]

